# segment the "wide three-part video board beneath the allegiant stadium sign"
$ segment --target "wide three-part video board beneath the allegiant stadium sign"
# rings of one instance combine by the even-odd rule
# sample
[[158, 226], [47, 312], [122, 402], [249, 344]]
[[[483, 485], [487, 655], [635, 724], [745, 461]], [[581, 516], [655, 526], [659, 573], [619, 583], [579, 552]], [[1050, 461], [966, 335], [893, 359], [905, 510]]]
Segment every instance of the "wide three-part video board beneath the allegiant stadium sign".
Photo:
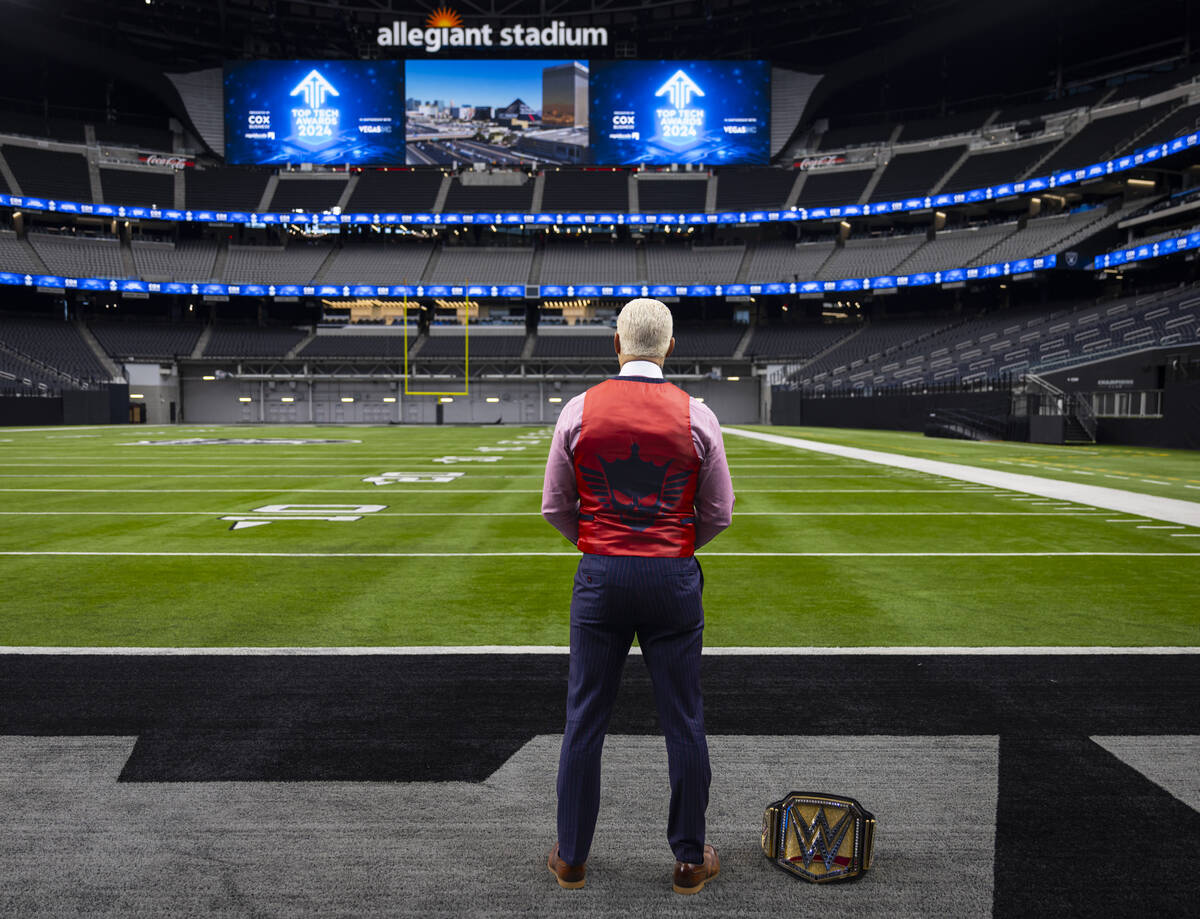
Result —
[[766, 164], [766, 61], [242, 61], [239, 164]]

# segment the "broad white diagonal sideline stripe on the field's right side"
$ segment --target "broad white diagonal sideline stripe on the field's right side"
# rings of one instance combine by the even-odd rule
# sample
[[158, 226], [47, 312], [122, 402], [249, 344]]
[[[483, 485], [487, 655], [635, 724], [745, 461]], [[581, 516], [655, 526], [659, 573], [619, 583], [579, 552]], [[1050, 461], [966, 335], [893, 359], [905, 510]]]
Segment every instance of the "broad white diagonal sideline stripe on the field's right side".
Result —
[[1076, 504], [1087, 504], [1093, 507], [1104, 507], [1110, 511], [1122, 513], [1135, 513], [1140, 517], [1165, 521], [1168, 523], [1183, 523], [1189, 527], [1200, 527], [1200, 504], [1186, 501], [1178, 498], [1160, 498], [1153, 494], [1139, 494], [1121, 488], [1108, 488], [1100, 485], [1085, 485], [1081, 482], [1067, 482], [1058, 479], [1043, 479], [1036, 475], [1024, 475], [1021, 473], [1006, 473], [998, 469], [986, 469], [983, 467], [962, 465], [960, 463], [944, 463], [940, 460], [920, 460], [902, 454], [886, 454], [880, 450], [863, 450], [857, 446], [841, 446], [840, 444], [826, 444], [820, 440], [806, 440], [798, 437], [784, 437], [781, 434], [768, 434], [761, 431], [745, 431], [737, 427], [721, 427], [727, 434], [744, 437], [751, 440], [762, 440], [768, 444], [780, 446], [794, 446], [800, 450], [810, 450], [818, 454], [841, 456], [847, 460], [862, 460], [868, 463], [878, 463], [899, 469], [912, 469], [918, 473], [929, 473], [946, 479], [958, 479], [964, 482], [976, 482], [977, 485], [990, 485], [996, 488], [1006, 488], [1013, 492], [1025, 492], [1042, 498], [1054, 498], [1057, 500], [1069, 500]]

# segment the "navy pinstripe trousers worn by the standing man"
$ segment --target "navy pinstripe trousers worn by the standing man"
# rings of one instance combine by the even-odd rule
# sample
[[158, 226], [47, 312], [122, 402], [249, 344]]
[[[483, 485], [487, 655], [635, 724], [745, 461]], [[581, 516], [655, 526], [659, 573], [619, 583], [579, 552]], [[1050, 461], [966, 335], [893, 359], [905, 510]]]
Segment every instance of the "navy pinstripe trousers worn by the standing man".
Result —
[[558, 847], [587, 860], [600, 810], [600, 755], [634, 636], [650, 673], [671, 776], [667, 840], [704, 860], [708, 743], [700, 687], [704, 575], [695, 558], [583, 555], [571, 595], [566, 731], [558, 759]]

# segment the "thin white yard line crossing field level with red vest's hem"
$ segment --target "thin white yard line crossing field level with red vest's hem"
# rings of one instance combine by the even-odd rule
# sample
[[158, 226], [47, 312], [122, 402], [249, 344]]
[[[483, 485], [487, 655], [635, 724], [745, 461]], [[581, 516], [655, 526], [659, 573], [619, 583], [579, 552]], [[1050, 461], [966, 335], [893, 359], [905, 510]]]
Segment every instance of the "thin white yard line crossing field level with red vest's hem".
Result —
[[[278, 518], [283, 519], [283, 518]], [[0, 557], [78, 558], [580, 558], [578, 552], [101, 552], [5, 549]], [[697, 558], [1200, 558], [1200, 552], [701, 552]]]

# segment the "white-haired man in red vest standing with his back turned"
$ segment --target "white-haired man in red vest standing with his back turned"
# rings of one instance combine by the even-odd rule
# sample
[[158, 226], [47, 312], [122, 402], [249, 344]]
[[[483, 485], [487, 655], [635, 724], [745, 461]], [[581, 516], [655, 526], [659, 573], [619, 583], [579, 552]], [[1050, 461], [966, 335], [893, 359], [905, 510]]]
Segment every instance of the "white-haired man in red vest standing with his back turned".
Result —
[[671, 332], [664, 304], [625, 305], [613, 338], [620, 376], [563, 407], [546, 462], [542, 516], [583, 552], [571, 596], [558, 842], [548, 859], [565, 888], [583, 887], [600, 753], [635, 633], [666, 734], [672, 887], [695, 894], [720, 871], [704, 842], [704, 576], [692, 553], [730, 525], [733, 485], [716, 416], [662, 379]]

